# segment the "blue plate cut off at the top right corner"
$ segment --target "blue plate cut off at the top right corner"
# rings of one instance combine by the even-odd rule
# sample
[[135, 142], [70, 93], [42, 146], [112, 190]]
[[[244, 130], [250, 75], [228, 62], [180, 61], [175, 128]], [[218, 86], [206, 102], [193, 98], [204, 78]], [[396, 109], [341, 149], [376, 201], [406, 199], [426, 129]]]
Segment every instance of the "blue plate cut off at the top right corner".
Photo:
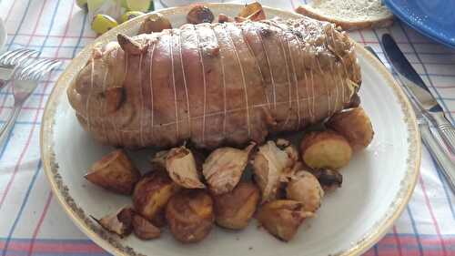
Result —
[[455, 48], [455, 1], [383, 0], [400, 20], [425, 36]]

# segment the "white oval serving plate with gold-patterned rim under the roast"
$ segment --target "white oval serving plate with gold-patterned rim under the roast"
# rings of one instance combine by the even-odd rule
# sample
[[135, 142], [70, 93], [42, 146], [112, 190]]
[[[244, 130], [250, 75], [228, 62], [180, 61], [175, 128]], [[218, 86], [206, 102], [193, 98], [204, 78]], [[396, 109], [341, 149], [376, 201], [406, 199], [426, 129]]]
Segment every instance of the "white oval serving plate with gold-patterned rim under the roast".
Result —
[[[234, 16], [241, 6], [209, 7], [215, 15]], [[187, 12], [187, 7], [160, 11], [175, 27], [185, 22]], [[268, 17], [299, 17], [272, 8], [266, 8], [266, 13]], [[104, 216], [131, 200], [83, 178], [86, 169], [110, 148], [97, 144], [81, 128], [68, 103], [66, 87], [86, 64], [94, 44], [115, 40], [119, 32], [136, 34], [144, 18], [118, 26], [86, 46], [58, 79], [45, 108], [41, 130], [45, 173], [66, 213], [88, 237], [116, 255], [159, 256], [351, 255], [379, 241], [410, 199], [420, 168], [420, 139], [408, 100], [388, 71], [361, 46], [357, 46], [363, 77], [360, 97], [375, 129], [374, 140], [342, 169], [343, 187], [324, 198], [318, 217], [306, 220], [293, 241], [278, 241], [258, 229], [256, 220], [242, 231], [214, 228], [206, 240], [192, 245], [174, 241], [168, 231], [158, 240], [139, 241], [133, 235], [120, 240], [100, 229], [88, 215]], [[134, 155], [144, 160], [147, 152]]]

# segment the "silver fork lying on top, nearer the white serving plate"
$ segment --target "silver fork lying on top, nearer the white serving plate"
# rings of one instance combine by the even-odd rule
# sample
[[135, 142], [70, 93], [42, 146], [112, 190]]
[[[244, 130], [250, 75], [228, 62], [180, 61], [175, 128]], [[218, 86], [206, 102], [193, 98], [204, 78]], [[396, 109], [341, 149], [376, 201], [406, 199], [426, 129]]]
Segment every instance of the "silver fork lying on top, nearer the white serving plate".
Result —
[[5, 125], [0, 128], [0, 145], [3, 144], [8, 137], [11, 129], [15, 125], [15, 119], [19, 116], [25, 100], [32, 94], [38, 85], [38, 80], [52, 69], [60, 65], [60, 61], [56, 59], [41, 59], [37, 61], [27, 61], [26, 66], [15, 67], [10, 83], [13, 87], [13, 96], [15, 97], [15, 105]]

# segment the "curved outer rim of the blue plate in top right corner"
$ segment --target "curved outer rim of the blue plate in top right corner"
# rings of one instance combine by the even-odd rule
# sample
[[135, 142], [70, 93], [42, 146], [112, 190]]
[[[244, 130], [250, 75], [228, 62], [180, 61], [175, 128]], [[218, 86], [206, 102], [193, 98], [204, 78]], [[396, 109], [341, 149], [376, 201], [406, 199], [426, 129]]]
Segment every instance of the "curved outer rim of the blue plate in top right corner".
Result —
[[450, 43], [451, 41], [448, 40], [447, 37], [441, 37], [438, 36], [437, 34], [434, 33], [432, 29], [429, 29], [426, 26], [420, 26], [419, 23], [413, 22], [410, 18], [409, 15], [406, 15], [401, 8], [399, 7], [400, 5], [397, 5], [393, 0], [383, 0], [383, 2], [389, 7], [390, 11], [399, 17], [399, 19], [403, 22], [405, 22], [407, 25], [411, 26], [420, 34], [424, 36], [430, 37], [430, 39], [444, 45], [444, 46], [449, 46], [450, 48], [455, 48], [455, 42]]

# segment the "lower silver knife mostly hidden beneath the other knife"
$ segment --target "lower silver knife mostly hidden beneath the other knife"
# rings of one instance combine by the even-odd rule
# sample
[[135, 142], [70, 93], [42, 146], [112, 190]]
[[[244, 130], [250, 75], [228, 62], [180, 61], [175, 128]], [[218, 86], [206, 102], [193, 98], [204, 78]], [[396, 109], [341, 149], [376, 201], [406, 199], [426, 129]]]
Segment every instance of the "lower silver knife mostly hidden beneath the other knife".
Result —
[[[370, 46], [365, 46], [365, 48], [369, 50], [373, 56], [376, 56], [379, 61], [381, 61], [373, 48]], [[436, 163], [440, 166], [442, 173], [449, 183], [450, 189], [452, 189], [452, 191], [455, 193], [455, 164], [447, 157], [437, 139], [434, 138], [433, 134], [430, 131], [428, 120], [423, 117], [420, 108], [417, 106], [415, 100], [410, 97], [408, 90], [404, 88], [403, 91], [410, 99], [410, 105], [416, 114], [417, 124], [419, 125], [420, 129], [420, 137], [422, 138], [423, 144], [425, 144], [425, 146], [427, 146], [429, 149], [431, 157], [436, 160]]]

